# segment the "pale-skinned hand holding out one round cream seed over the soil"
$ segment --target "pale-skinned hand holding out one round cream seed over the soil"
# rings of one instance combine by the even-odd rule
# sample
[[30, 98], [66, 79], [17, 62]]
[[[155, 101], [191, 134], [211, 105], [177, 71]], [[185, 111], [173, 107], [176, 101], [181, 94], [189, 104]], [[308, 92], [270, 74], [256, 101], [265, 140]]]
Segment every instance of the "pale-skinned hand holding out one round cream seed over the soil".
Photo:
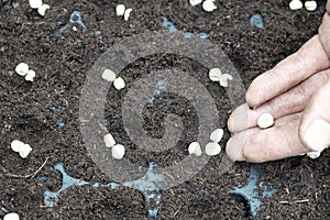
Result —
[[[256, 121], [264, 112], [275, 123], [262, 130]], [[233, 161], [262, 163], [329, 147], [330, 1], [319, 34], [252, 81], [246, 103], [232, 112], [228, 128], [233, 136], [227, 154]]]

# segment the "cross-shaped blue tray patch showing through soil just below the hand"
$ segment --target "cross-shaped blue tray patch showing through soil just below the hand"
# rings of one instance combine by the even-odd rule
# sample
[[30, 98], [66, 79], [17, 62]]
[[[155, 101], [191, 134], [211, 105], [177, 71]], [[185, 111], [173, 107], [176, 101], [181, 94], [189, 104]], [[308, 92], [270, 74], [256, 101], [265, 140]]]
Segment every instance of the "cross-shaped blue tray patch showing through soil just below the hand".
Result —
[[[250, 212], [252, 217], [255, 219], [256, 215], [260, 210], [260, 207], [262, 205], [262, 201], [258, 199], [258, 188], [257, 188], [257, 182], [260, 177], [260, 168], [257, 164], [252, 164], [251, 165], [251, 170], [250, 170], [250, 177], [249, 177], [249, 183], [244, 187], [235, 187], [234, 189], [230, 190], [230, 194], [239, 195], [242, 196], [246, 201], [249, 202], [250, 206]], [[271, 197], [274, 195], [277, 189], [268, 189], [266, 184], [263, 185], [263, 191], [261, 197]]]

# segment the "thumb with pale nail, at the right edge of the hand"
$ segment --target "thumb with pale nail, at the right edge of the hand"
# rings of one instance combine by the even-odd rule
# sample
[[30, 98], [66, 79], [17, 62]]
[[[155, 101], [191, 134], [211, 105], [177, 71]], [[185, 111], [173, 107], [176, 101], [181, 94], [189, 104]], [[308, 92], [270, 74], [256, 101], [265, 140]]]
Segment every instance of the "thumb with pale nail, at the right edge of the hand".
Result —
[[299, 127], [304, 145], [320, 152], [330, 145], [330, 79], [311, 98]]

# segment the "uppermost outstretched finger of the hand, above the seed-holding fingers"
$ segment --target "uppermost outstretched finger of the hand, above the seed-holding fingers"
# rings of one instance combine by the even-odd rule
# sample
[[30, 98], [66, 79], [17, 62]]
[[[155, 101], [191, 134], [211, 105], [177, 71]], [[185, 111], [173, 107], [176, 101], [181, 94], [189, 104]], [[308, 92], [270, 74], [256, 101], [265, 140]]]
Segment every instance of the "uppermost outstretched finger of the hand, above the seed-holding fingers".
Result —
[[305, 43], [300, 50], [279, 62], [271, 70], [256, 77], [246, 91], [246, 103], [258, 107], [287, 91], [311, 75], [330, 67], [319, 36]]

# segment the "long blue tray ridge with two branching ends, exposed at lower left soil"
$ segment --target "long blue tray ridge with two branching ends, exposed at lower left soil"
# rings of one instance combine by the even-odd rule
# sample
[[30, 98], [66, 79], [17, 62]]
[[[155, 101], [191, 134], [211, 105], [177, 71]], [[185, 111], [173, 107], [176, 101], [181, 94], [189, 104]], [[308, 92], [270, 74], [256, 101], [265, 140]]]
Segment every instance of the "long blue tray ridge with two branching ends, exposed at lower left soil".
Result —
[[[156, 165], [154, 163], [151, 163], [146, 174], [143, 177], [134, 182], [125, 182], [122, 184], [123, 186], [127, 187], [138, 188], [139, 191], [144, 196], [145, 204], [148, 209], [147, 210], [148, 218], [156, 218], [158, 215], [160, 209], [157, 207], [161, 202], [161, 194], [160, 194], [160, 188], [157, 187], [157, 183], [164, 182], [164, 176], [162, 174], [155, 174], [154, 167], [156, 167]], [[62, 178], [63, 178], [62, 187], [58, 191], [44, 193], [44, 205], [47, 207], [55, 206], [58, 195], [72, 186], [89, 185], [95, 188], [107, 187], [110, 190], [113, 190], [120, 186], [120, 184], [118, 183], [109, 183], [106, 185], [102, 185], [100, 183], [90, 184], [88, 182], [74, 178], [65, 172], [63, 163], [56, 164], [54, 168], [56, 170], [59, 170], [62, 174]]]

